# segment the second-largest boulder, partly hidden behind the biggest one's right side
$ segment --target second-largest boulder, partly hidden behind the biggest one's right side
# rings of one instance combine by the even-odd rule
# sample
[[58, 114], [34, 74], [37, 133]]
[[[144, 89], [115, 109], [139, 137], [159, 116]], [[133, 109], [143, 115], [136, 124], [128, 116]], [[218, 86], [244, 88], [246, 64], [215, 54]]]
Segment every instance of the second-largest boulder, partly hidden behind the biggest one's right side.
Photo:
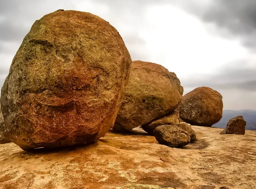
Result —
[[158, 64], [133, 61], [114, 129], [131, 130], [172, 113], [182, 94], [183, 87], [175, 73]]

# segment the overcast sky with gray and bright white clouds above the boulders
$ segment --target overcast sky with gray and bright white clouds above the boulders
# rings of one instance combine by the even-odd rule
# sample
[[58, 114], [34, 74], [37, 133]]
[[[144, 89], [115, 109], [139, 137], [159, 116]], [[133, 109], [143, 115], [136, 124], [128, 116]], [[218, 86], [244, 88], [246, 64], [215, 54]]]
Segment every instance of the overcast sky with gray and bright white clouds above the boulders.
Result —
[[256, 110], [253, 0], [1, 0], [0, 87], [32, 24], [58, 9], [107, 20], [133, 60], [175, 72], [184, 94], [207, 86], [222, 94], [224, 110]]

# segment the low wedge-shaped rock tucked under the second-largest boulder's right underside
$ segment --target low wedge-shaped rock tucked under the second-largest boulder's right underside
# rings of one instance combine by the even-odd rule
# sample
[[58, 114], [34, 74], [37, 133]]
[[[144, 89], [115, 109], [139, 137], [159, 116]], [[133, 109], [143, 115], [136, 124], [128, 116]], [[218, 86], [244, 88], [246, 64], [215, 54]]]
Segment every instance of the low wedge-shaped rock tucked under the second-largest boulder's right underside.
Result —
[[150, 121], [149, 123], [142, 125], [141, 128], [145, 130], [148, 134], [153, 135], [154, 129], [158, 126], [180, 123], [179, 118], [179, 112], [175, 111], [174, 113], [168, 116], [163, 116], [161, 118], [154, 119], [153, 121]]

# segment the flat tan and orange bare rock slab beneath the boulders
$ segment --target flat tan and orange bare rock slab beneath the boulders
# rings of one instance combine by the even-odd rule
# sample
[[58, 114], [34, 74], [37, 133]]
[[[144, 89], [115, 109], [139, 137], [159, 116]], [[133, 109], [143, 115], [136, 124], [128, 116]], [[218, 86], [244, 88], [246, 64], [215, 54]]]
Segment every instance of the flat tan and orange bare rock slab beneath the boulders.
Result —
[[160, 145], [141, 129], [55, 151], [1, 144], [0, 189], [256, 188], [255, 131], [192, 129], [198, 141], [181, 149]]

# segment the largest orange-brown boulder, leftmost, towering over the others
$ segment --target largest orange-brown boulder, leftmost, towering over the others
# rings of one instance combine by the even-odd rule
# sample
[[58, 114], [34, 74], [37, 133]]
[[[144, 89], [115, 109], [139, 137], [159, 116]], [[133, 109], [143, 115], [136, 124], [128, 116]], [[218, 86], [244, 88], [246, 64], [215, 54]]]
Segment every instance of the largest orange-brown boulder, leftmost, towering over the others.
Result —
[[96, 15], [55, 11], [37, 20], [2, 87], [7, 135], [23, 150], [90, 144], [113, 127], [131, 58]]

